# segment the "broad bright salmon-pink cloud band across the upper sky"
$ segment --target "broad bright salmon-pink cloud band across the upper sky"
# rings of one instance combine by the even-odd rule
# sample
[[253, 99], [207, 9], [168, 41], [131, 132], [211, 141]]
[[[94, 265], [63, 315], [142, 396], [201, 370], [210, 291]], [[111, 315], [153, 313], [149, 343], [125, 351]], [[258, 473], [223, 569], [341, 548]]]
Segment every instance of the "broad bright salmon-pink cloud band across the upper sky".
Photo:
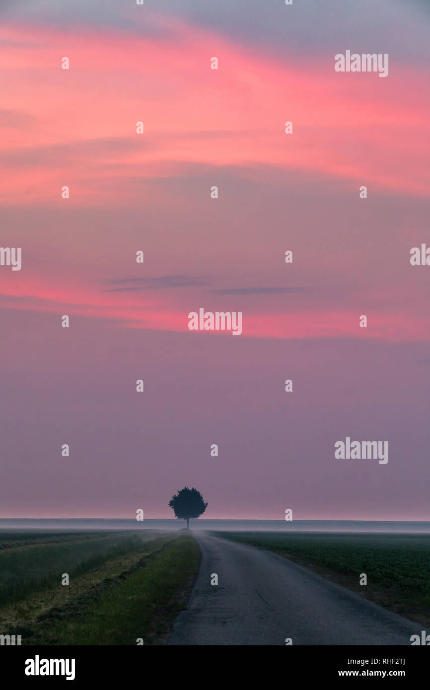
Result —
[[[3, 28], [8, 72], [0, 71], [0, 108], [28, 113], [27, 126], [8, 128], [0, 150], [21, 161], [6, 176], [3, 203], [54, 201], [70, 184], [81, 204], [97, 204], [101, 181], [114, 177], [121, 204], [130, 197], [122, 177], [156, 179], [188, 162], [274, 166], [379, 191], [426, 193], [429, 97], [416, 68], [390, 64], [389, 77], [378, 79], [335, 73], [331, 63], [297, 59], [286, 67], [184, 23], [169, 21], [168, 28], [168, 39]], [[31, 45], [15, 49], [10, 41], [18, 37]], [[60, 68], [65, 56], [70, 70]], [[218, 70], [210, 68], [213, 56]], [[144, 135], [135, 133], [139, 120]], [[285, 121], [293, 122], [293, 135], [284, 134]], [[85, 142], [97, 139], [129, 146], [115, 157], [90, 144], [85, 152]], [[61, 146], [70, 144], [79, 144], [80, 157], [64, 161]], [[56, 146], [57, 160], [35, 164], [38, 149], [43, 160], [43, 149]]]

